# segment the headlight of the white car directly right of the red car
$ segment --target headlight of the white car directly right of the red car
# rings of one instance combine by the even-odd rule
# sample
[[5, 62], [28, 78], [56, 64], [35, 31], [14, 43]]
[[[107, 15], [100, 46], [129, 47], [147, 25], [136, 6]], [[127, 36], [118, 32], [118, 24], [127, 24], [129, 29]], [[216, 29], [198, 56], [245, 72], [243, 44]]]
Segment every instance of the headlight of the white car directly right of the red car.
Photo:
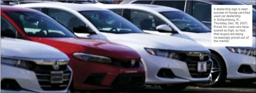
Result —
[[180, 60], [180, 58], [181, 58], [179, 53], [171, 52], [169, 50], [150, 49], [150, 48], [145, 48], [145, 50], [147, 51], [147, 53], [155, 55], [155, 56], [177, 59], [177, 60]]

